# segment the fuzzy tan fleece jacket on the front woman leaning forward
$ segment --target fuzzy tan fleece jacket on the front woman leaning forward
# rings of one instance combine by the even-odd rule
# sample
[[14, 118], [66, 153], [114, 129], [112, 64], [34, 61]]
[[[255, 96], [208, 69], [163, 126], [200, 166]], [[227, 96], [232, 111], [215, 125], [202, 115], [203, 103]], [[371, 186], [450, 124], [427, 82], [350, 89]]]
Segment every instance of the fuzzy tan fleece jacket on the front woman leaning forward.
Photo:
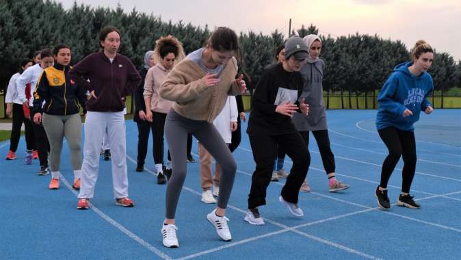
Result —
[[218, 85], [207, 87], [202, 79], [207, 73], [186, 58], [168, 73], [160, 96], [174, 101], [173, 109], [181, 116], [211, 123], [226, 104], [227, 96], [241, 94], [235, 81], [237, 69], [237, 60], [233, 57], [222, 70]]

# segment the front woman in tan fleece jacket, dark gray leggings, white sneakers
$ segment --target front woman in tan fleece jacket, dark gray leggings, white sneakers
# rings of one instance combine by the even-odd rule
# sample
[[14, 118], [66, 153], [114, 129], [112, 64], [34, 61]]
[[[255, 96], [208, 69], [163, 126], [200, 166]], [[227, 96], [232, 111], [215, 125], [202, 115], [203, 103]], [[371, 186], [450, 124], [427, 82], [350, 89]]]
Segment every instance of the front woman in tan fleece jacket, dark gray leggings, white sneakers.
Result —
[[215, 226], [222, 240], [232, 239], [228, 218], [224, 215], [237, 164], [212, 122], [220, 114], [228, 95], [246, 90], [242, 76], [235, 79], [237, 61], [233, 56], [238, 53], [235, 32], [219, 27], [213, 31], [204, 48], [190, 53], [173, 68], [161, 86], [161, 97], [174, 101], [165, 123], [166, 139], [172, 155], [172, 177], [166, 190], [166, 219], [161, 229], [166, 247], [179, 246], [175, 213], [187, 172], [187, 133], [192, 133], [222, 166], [218, 205], [207, 215], [207, 219]]

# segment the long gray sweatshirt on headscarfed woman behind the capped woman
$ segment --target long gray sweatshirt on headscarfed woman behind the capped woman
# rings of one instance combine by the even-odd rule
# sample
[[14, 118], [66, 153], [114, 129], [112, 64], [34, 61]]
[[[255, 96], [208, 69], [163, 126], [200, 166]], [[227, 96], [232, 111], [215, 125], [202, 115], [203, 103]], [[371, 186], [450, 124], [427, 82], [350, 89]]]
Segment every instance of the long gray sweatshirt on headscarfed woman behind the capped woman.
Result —
[[309, 105], [309, 113], [306, 116], [302, 113], [295, 113], [293, 123], [298, 131], [318, 131], [328, 129], [326, 125], [326, 112], [324, 107], [324, 89], [321, 85], [324, 77], [324, 60], [317, 60], [314, 63], [306, 63], [302, 66], [300, 73], [304, 79], [300, 99], [305, 99]]

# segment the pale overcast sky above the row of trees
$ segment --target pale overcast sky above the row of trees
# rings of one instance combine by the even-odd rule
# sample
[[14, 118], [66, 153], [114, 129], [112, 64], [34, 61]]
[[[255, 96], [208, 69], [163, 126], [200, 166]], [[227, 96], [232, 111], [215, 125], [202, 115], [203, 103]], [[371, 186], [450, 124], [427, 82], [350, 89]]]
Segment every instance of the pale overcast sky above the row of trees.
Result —
[[[75, 0], [57, 0], [70, 8]], [[378, 34], [402, 40], [408, 49], [423, 39], [437, 51], [461, 57], [460, 0], [77, 0], [85, 5], [137, 11], [161, 16], [163, 21], [205, 26], [228, 26], [235, 31], [278, 29], [287, 36], [302, 24], [317, 26], [321, 34]]]

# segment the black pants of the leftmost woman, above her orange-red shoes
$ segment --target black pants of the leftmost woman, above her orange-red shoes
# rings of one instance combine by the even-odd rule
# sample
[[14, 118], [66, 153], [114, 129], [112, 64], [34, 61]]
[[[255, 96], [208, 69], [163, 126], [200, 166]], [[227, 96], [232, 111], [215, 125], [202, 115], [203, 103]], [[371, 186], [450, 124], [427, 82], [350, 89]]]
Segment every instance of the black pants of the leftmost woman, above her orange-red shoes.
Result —
[[16, 153], [16, 150], [18, 150], [19, 139], [21, 138], [21, 126], [23, 123], [27, 150], [34, 149], [34, 129], [32, 129], [32, 121], [24, 117], [23, 105], [13, 103], [12, 112], [13, 124], [10, 137], [10, 151]]

